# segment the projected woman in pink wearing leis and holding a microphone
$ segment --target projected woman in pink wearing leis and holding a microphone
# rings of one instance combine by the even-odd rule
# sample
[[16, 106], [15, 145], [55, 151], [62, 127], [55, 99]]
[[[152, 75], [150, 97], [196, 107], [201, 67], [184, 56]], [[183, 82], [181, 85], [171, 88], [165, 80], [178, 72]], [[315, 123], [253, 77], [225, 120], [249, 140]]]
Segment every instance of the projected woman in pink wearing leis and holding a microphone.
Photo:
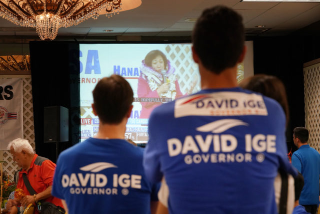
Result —
[[[182, 96], [174, 74], [175, 69], [161, 51], [150, 51], [142, 60], [140, 71], [138, 97], [171, 98], [174, 100]], [[160, 104], [160, 102], [141, 102], [140, 118], [148, 118], [151, 111]]]

